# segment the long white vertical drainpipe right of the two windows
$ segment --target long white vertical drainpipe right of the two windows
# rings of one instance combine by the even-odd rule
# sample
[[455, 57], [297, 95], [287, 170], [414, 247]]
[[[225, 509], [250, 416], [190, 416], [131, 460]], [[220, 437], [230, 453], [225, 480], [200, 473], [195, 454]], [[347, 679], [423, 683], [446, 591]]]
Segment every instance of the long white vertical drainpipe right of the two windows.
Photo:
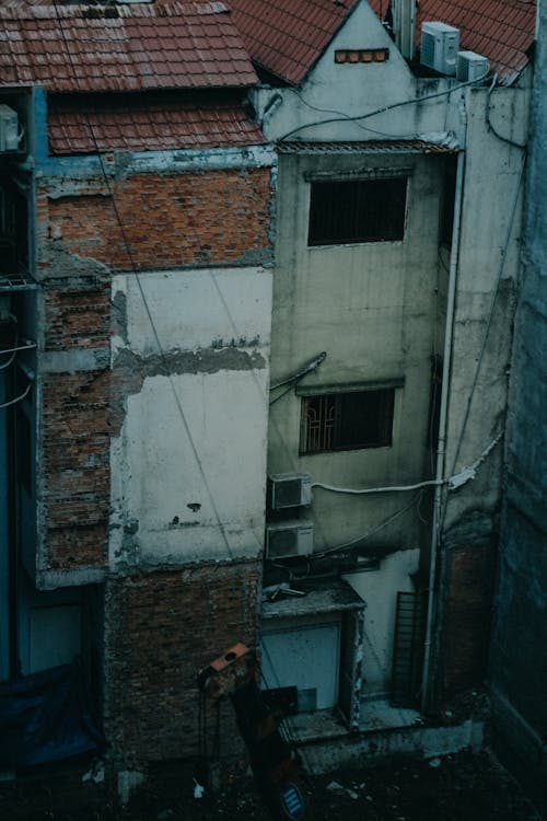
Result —
[[[463, 132], [467, 125], [467, 115], [462, 107], [461, 112]], [[465, 144], [465, 142], [464, 142]], [[429, 568], [429, 597], [428, 597], [428, 618], [426, 624], [426, 644], [423, 655], [423, 672], [421, 680], [421, 709], [427, 712], [430, 703], [430, 680], [431, 680], [431, 656], [432, 656], [432, 636], [433, 636], [433, 615], [437, 605], [435, 601], [435, 576], [437, 576], [437, 554], [440, 547], [440, 527], [441, 527], [441, 504], [445, 490], [444, 479], [444, 461], [446, 455], [446, 424], [449, 416], [449, 383], [452, 360], [452, 344], [454, 334], [454, 309], [456, 300], [456, 279], [457, 264], [459, 256], [459, 230], [462, 221], [462, 200], [464, 190], [464, 165], [465, 153], [459, 151], [456, 167], [456, 190], [454, 195], [454, 224], [452, 231], [452, 247], [450, 255], [450, 274], [449, 274], [449, 293], [446, 303], [446, 326], [444, 332], [444, 358], [443, 358], [443, 380], [441, 386], [441, 408], [439, 414], [439, 440], [437, 446], [437, 466], [435, 466], [435, 493], [433, 497], [433, 523], [431, 528], [431, 557]]]

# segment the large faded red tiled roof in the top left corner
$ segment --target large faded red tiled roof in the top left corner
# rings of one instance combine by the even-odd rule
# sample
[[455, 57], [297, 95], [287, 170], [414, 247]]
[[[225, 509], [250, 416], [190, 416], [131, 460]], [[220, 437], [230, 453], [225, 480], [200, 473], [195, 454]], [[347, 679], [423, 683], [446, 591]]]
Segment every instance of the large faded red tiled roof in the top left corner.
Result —
[[256, 79], [221, 2], [0, 7], [0, 84], [142, 91]]

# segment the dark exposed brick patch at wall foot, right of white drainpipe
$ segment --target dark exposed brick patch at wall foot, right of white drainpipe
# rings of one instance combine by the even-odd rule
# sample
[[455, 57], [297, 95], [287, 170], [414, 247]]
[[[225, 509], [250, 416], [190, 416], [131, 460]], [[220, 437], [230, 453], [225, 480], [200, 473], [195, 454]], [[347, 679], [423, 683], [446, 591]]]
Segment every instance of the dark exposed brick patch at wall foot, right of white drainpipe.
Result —
[[444, 615], [443, 690], [447, 696], [479, 686], [488, 663], [494, 551], [454, 550], [449, 557]]

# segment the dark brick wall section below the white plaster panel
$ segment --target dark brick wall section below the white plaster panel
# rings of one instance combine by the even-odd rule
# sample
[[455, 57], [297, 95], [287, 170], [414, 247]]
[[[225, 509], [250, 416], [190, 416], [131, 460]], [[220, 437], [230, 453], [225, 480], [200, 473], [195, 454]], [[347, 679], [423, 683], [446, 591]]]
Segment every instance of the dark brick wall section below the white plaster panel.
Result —
[[[155, 573], [107, 585], [105, 729], [127, 762], [198, 754], [197, 672], [236, 641], [254, 646], [258, 564]], [[213, 705], [208, 706], [211, 751]], [[229, 701], [221, 754], [244, 750]]]

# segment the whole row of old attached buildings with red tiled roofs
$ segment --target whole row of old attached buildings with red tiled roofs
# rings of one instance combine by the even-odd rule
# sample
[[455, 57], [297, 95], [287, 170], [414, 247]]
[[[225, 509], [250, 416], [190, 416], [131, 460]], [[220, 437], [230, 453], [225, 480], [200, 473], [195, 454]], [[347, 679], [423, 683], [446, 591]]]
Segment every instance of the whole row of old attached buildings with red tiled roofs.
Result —
[[236, 640], [303, 735], [487, 671], [534, 4], [228, 5], [0, 11], [0, 678], [118, 770]]

